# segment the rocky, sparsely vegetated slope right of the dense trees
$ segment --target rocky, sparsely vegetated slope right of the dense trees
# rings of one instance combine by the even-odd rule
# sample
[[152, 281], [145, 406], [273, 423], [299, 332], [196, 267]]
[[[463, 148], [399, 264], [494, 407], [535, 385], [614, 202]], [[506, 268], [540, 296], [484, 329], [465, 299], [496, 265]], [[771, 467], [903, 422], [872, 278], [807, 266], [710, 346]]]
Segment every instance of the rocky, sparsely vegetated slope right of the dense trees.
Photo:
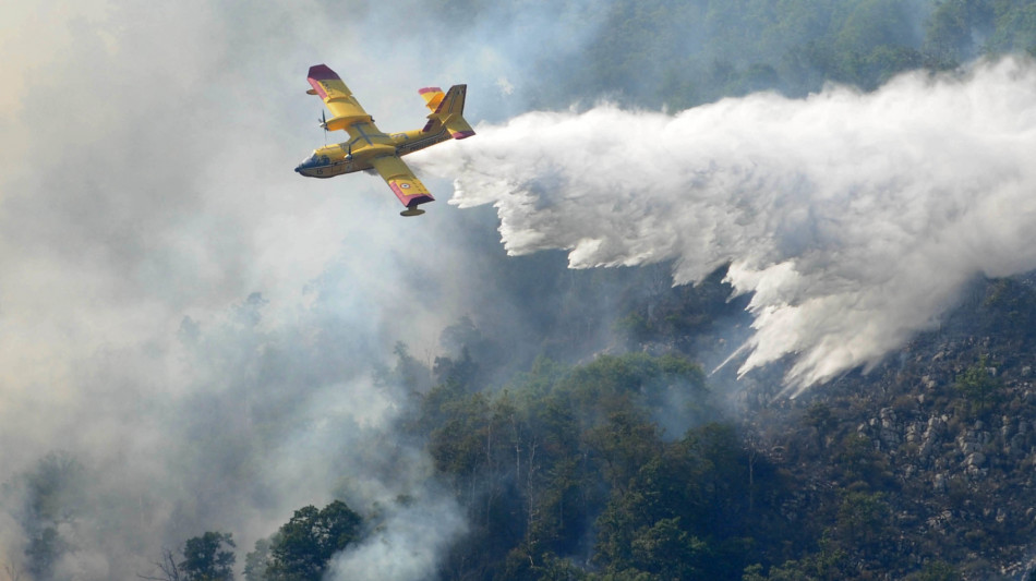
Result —
[[797, 399], [778, 395], [779, 371], [742, 380], [748, 440], [796, 482], [782, 512], [811, 531], [806, 560], [839, 555], [818, 578], [899, 579], [945, 561], [969, 579], [1011, 579], [1029, 567], [1034, 324], [1026, 280], [980, 280], [939, 328], [869, 373]]

